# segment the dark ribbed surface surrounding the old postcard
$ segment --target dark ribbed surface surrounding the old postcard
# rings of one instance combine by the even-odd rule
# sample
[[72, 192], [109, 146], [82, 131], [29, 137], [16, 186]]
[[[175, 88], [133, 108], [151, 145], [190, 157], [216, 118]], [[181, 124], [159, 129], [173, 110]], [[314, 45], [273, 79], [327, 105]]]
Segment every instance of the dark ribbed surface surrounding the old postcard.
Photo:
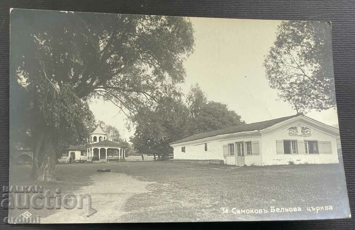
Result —
[[[0, 1], [0, 186], [9, 185], [9, 16], [10, 8], [147, 15], [331, 21], [335, 90], [346, 183], [355, 211], [355, 1], [163, 1], [33, 0]], [[2, 199], [2, 197], [0, 197]], [[355, 220], [157, 223], [90, 225], [9, 225], [0, 208], [0, 229], [353, 229]]]

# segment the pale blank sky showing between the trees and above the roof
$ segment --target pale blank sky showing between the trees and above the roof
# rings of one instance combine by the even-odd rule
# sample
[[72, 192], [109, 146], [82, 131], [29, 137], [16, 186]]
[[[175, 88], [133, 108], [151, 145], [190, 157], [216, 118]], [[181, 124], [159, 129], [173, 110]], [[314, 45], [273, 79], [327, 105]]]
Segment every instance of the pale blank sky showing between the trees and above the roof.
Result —
[[[180, 85], [185, 94], [198, 83], [208, 100], [227, 104], [246, 123], [296, 114], [290, 104], [278, 99], [277, 90], [269, 87], [262, 65], [281, 21], [190, 20], [195, 30], [195, 51], [185, 61], [187, 77]], [[112, 103], [94, 100], [90, 109], [96, 119], [116, 126], [127, 141], [134, 134], [134, 128], [127, 130], [124, 114]], [[307, 116], [328, 125], [338, 124], [334, 109], [310, 111]]]

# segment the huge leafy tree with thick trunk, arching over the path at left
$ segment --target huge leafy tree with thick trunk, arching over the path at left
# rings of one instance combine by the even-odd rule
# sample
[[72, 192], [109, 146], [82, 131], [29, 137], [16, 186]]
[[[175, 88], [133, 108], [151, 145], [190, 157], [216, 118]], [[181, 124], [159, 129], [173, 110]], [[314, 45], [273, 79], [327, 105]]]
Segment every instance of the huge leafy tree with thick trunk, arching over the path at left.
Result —
[[28, 106], [34, 179], [55, 180], [58, 133], [92, 117], [88, 100], [130, 119], [157, 106], [184, 81], [193, 45], [182, 17], [12, 10], [10, 75], [29, 100], [17, 106]]

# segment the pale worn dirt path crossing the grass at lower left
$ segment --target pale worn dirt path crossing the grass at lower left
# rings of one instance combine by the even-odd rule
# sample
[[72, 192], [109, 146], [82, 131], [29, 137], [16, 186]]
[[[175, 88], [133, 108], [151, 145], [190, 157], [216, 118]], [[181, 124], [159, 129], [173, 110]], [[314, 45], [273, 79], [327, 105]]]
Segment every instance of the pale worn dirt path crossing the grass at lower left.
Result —
[[[128, 198], [138, 193], [148, 192], [149, 182], [140, 181], [126, 174], [115, 172], [97, 173], [91, 176], [95, 182], [82, 187], [76, 194], [91, 196], [91, 207], [97, 210], [87, 217], [87, 205], [83, 200], [83, 208], [65, 209], [62, 207], [54, 214], [41, 218], [40, 223], [112, 223], [121, 222], [124, 214], [124, 204]], [[64, 196], [64, 194], [62, 194]], [[70, 202], [69, 202], [70, 203]]]

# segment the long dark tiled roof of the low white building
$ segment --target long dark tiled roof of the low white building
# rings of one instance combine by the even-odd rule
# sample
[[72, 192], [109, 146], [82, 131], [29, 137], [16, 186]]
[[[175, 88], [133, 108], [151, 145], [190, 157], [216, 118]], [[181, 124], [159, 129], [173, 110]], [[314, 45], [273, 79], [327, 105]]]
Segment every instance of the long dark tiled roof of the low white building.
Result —
[[175, 141], [170, 144], [178, 144], [178, 143], [187, 142], [187, 141], [195, 141], [195, 140], [206, 138], [206, 137], [213, 137], [213, 136], [223, 135], [223, 134], [228, 134], [228, 133], [263, 130], [264, 128], [273, 126], [279, 122], [288, 120], [288, 119], [296, 117], [296, 116], [300, 116], [300, 114], [296, 114], [293, 116], [280, 117], [280, 118], [272, 119], [272, 120], [268, 120], [268, 121], [260, 121], [260, 122], [245, 124], [245, 125], [238, 125], [238, 126], [233, 126], [233, 127], [228, 127], [228, 128], [222, 128], [220, 130], [214, 130], [211, 132], [197, 133], [195, 135], [192, 135], [190, 137], [186, 137], [184, 139], [181, 139], [179, 141]]

